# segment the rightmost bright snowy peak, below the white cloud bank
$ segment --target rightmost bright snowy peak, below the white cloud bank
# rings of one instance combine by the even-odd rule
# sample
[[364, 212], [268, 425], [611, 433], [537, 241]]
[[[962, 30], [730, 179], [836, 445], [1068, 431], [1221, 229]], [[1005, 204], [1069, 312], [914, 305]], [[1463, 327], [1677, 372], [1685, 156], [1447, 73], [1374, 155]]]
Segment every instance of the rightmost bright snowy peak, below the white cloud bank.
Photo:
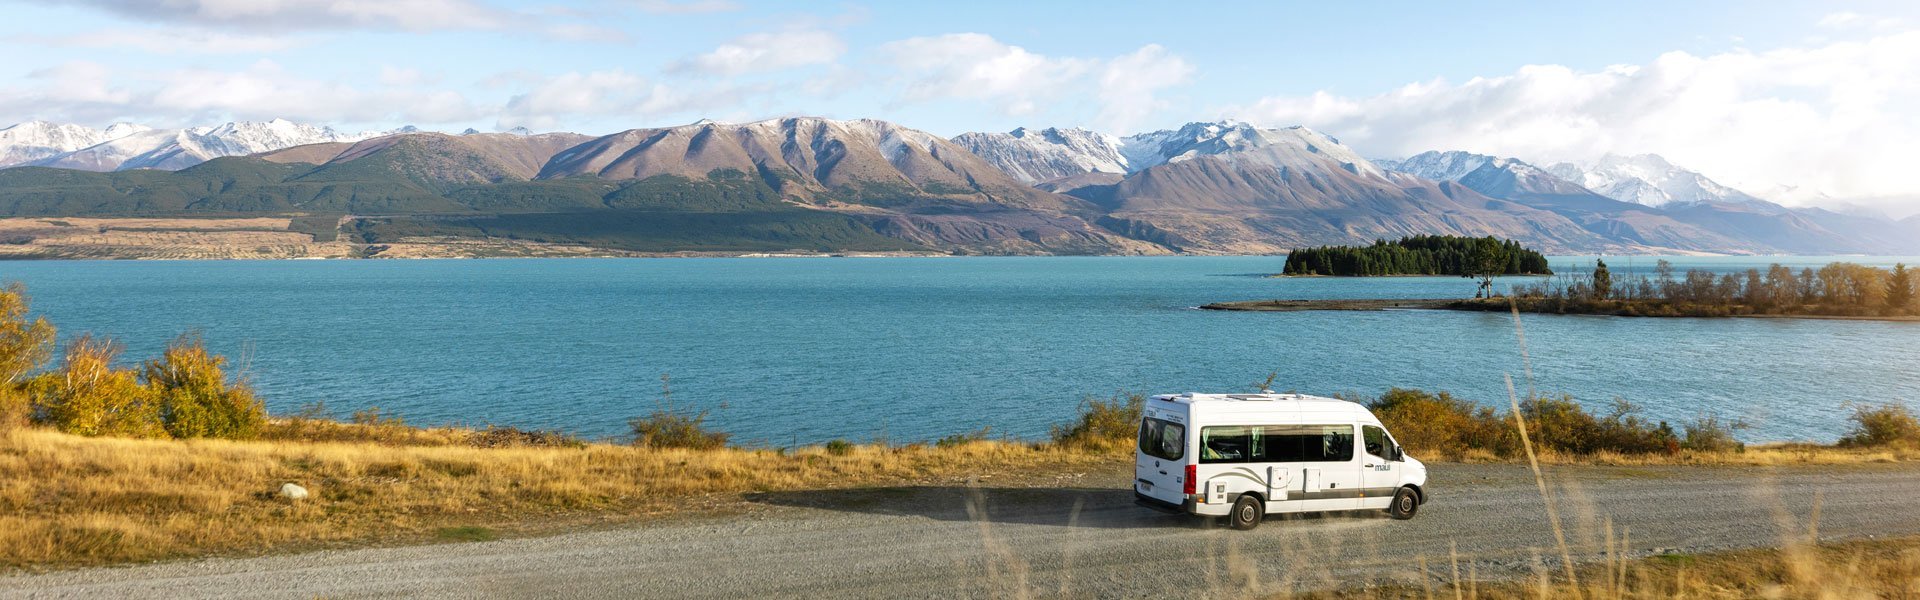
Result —
[[1645, 206], [1695, 202], [1772, 206], [1772, 202], [1715, 183], [1707, 175], [1676, 167], [1659, 154], [1607, 154], [1594, 163], [1555, 163], [1548, 171], [1601, 196]]

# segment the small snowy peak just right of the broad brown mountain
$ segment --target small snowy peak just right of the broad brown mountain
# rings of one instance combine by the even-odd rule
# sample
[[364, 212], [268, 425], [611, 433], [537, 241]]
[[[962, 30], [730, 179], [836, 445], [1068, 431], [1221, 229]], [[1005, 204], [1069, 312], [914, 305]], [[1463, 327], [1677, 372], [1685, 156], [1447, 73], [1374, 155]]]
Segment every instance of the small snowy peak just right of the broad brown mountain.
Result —
[[952, 142], [1027, 185], [1081, 173], [1129, 171], [1127, 158], [1119, 152], [1119, 138], [1077, 127], [962, 133]]

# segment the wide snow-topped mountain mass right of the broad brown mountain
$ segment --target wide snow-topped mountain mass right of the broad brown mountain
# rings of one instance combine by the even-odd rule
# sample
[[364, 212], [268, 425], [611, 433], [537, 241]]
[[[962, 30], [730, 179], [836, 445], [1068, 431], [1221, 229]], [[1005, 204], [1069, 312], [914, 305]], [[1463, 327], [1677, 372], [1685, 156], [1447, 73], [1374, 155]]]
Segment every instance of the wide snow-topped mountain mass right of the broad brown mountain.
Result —
[[1083, 135], [1083, 144], [1060, 140], [1058, 129], [1054, 140], [1046, 133], [956, 142], [1002, 171], [1054, 175], [1039, 188], [1092, 202], [1106, 210], [1100, 225], [1181, 252], [1286, 252], [1413, 233], [1503, 235], [1546, 248], [1607, 244], [1551, 212], [1390, 173], [1306, 127], [1208, 121], [1117, 140]]

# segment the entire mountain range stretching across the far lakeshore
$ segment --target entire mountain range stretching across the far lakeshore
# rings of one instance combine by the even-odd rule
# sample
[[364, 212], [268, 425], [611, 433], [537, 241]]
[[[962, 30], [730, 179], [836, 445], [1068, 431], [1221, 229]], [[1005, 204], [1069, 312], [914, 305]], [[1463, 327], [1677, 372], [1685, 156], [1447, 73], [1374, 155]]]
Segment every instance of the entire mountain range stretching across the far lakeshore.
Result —
[[338, 133], [290, 121], [0, 129], [0, 215], [355, 215], [363, 242], [511, 237], [628, 250], [1273, 254], [1404, 235], [1546, 252], [1899, 254], [1907, 221], [1784, 208], [1659, 156], [1536, 167], [1238, 121], [943, 138], [874, 119], [605, 137]]

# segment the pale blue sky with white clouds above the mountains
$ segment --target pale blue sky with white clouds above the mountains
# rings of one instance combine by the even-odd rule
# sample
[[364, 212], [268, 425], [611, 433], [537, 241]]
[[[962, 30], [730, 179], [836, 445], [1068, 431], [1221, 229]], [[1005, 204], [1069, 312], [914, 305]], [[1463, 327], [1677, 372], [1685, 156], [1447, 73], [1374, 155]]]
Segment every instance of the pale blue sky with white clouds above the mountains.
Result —
[[1920, 158], [1912, 2], [0, 0], [0, 123], [1235, 117], [1369, 156], [1657, 152], [1788, 202], [1920, 198], [1884, 173]]

